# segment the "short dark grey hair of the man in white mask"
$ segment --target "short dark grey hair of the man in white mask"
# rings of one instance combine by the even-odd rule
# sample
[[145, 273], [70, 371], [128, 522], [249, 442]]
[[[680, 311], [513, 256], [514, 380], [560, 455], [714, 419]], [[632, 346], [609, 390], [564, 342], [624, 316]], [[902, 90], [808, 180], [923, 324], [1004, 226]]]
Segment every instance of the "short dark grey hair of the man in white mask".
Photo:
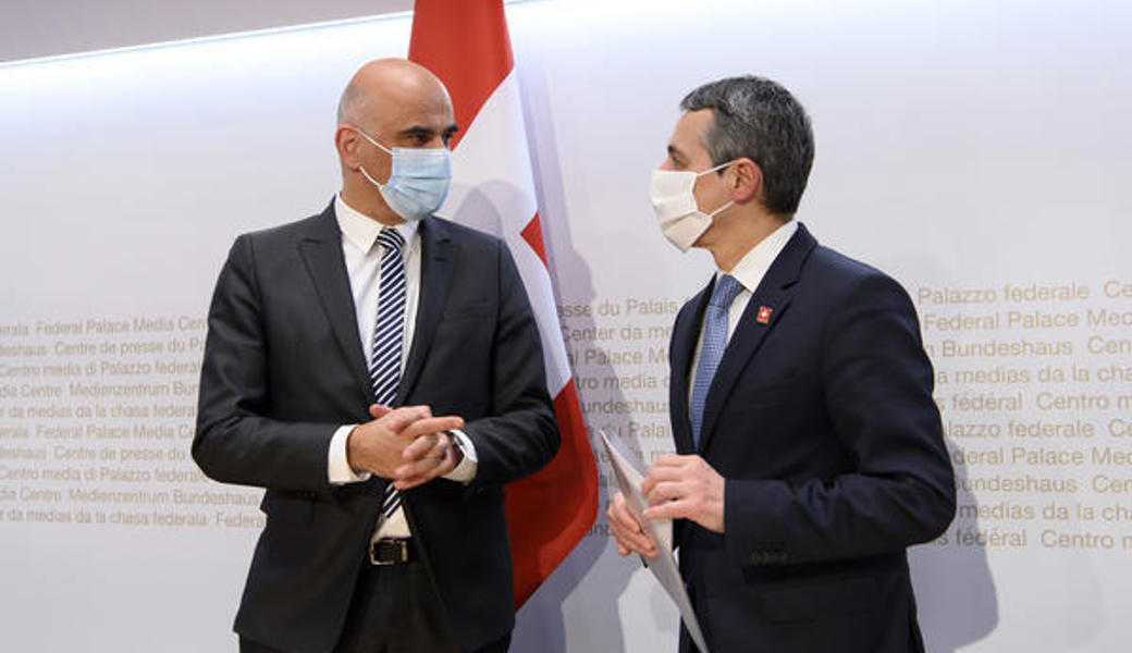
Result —
[[740, 157], [754, 161], [763, 172], [767, 210], [798, 210], [814, 163], [814, 131], [789, 91], [764, 77], [729, 77], [688, 93], [680, 109], [712, 110], [704, 146], [713, 165]]

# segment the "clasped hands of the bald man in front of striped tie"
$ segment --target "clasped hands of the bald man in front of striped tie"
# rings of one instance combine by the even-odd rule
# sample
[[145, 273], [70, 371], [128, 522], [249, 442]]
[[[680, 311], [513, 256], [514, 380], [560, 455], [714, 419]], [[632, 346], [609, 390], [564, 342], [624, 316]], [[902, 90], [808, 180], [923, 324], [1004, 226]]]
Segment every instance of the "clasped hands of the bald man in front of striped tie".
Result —
[[374, 419], [360, 424], [346, 439], [346, 461], [357, 471], [392, 479], [398, 490], [408, 490], [456, 469], [463, 455], [453, 445], [451, 429], [464, 420], [454, 415], [432, 416], [428, 406], [389, 409], [374, 404]]

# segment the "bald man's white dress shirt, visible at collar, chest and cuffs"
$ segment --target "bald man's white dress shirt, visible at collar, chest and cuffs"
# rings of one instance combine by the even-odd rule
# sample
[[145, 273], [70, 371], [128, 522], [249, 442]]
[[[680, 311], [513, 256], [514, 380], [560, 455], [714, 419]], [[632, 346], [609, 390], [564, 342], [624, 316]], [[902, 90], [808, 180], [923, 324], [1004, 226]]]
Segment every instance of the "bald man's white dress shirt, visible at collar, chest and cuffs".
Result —
[[[380, 293], [380, 267], [384, 249], [377, 244], [377, 234], [381, 231], [381, 223], [372, 220], [348, 205], [342, 196], [334, 199], [334, 215], [338, 221], [338, 229], [342, 230], [342, 255], [346, 264], [346, 273], [350, 276], [350, 291], [354, 300], [354, 313], [358, 316], [358, 335], [361, 337], [362, 349], [366, 352], [367, 364], [374, 358], [374, 327], [377, 323], [377, 302]], [[421, 239], [418, 233], [418, 222], [403, 222], [394, 229], [405, 240], [402, 256], [405, 258], [405, 325], [404, 341], [401, 346], [401, 371], [404, 373], [405, 361], [409, 359], [409, 350], [413, 343], [413, 333], [417, 326], [417, 307], [420, 299], [421, 281]], [[338, 427], [331, 439], [331, 448], [327, 453], [327, 470], [329, 480], [335, 484], [355, 483], [367, 481], [369, 472], [355, 473], [346, 459], [346, 438], [358, 424], [344, 424]], [[469, 482], [475, 478], [477, 456], [475, 447], [471, 439], [461, 431], [454, 431], [460, 440], [460, 447], [464, 453], [464, 458], [455, 470], [445, 474], [445, 479], [460, 482]], [[404, 509], [397, 508], [388, 519], [383, 519], [374, 536], [380, 538], [408, 538], [410, 536], [409, 522], [405, 519]]]

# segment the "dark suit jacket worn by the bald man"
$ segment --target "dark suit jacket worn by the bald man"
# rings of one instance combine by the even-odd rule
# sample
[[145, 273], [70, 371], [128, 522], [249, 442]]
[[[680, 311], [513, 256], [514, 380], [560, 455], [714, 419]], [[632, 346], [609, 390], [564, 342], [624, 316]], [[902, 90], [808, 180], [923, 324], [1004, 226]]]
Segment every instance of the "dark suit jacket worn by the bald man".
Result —
[[[420, 238], [415, 334], [394, 403], [462, 415], [479, 464], [472, 483], [434, 480], [404, 507], [452, 633], [474, 648], [514, 624], [503, 484], [548, 463], [558, 431], [506, 246], [435, 217]], [[357, 324], [333, 204], [237, 239], [208, 316], [192, 455], [217, 481], [267, 488], [235, 630], [283, 651], [334, 646], [386, 482], [327, 479], [332, 435], [367, 421], [374, 401]]]

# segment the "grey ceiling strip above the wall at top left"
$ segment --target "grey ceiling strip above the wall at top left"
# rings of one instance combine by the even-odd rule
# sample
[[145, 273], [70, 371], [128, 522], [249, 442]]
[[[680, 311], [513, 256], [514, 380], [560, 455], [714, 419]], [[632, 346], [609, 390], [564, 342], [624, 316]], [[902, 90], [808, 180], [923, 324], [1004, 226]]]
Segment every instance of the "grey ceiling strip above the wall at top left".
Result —
[[0, 61], [411, 10], [413, 0], [0, 0]]

